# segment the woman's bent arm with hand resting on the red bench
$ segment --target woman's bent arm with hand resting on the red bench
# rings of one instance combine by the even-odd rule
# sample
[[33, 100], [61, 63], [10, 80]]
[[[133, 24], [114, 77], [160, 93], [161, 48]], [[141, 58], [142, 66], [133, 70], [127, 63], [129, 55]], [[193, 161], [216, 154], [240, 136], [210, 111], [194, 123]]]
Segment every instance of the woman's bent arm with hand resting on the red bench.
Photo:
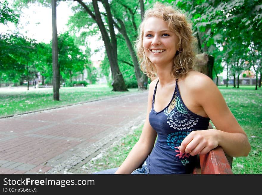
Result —
[[196, 104], [204, 109], [216, 129], [191, 132], [182, 141], [180, 152], [202, 155], [221, 146], [227, 155], [247, 156], [251, 149], [247, 135], [214, 82], [207, 76], [194, 77], [190, 90], [194, 94]]

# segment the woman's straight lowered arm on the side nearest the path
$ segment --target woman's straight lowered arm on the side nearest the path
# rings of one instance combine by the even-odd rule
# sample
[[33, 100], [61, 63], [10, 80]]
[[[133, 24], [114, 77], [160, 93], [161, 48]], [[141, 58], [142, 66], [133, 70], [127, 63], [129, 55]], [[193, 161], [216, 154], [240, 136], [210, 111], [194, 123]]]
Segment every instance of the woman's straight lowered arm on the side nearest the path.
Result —
[[152, 108], [152, 97], [155, 84], [156, 83], [152, 81], [149, 85], [146, 120], [140, 138], [115, 174], [131, 174], [132, 171], [137, 169], [138, 166], [140, 166], [144, 160], [146, 160], [146, 157], [154, 147], [157, 133], [149, 124], [149, 113]]

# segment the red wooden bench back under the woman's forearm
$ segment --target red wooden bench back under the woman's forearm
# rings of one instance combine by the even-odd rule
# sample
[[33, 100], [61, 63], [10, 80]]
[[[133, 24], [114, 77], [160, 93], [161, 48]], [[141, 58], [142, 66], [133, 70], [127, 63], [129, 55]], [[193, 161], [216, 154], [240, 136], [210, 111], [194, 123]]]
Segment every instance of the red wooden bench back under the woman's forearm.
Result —
[[[212, 129], [209, 123], [208, 129]], [[233, 174], [233, 157], [224, 153], [222, 147], [214, 148], [206, 155], [198, 155], [198, 164], [192, 174]]]

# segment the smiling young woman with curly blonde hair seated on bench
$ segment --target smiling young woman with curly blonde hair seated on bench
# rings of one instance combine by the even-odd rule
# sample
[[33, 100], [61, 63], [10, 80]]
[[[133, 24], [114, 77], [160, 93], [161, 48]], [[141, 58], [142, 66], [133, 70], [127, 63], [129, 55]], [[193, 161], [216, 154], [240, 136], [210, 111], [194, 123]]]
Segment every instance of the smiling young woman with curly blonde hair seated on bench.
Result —
[[[247, 135], [219, 89], [193, 70], [193, 42], [191, 24], [179, 11], [158, 2], [146, 11], [136, 44], [141, 69], [152, 80], [146, 121], [113, 173], [190, 174], [197, 154], [217, 146], [233, 157], [249, 154]], [[210, 120], [216, 129], [208, 129]]]

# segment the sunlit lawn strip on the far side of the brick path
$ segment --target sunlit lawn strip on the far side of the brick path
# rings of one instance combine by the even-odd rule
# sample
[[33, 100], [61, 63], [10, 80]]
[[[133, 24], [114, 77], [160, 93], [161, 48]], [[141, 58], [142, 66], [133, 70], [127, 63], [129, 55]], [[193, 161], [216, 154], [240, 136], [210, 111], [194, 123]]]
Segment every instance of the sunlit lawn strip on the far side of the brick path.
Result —
[[107, 85], [61, 87], [59, 90], [60, 101], [53, 100], [53, 88], [39, 90], [29, 88], [29, 91], [0, 90], [0, 117], [141, 92], [137, 88], [128, 90], [116, 92]]

